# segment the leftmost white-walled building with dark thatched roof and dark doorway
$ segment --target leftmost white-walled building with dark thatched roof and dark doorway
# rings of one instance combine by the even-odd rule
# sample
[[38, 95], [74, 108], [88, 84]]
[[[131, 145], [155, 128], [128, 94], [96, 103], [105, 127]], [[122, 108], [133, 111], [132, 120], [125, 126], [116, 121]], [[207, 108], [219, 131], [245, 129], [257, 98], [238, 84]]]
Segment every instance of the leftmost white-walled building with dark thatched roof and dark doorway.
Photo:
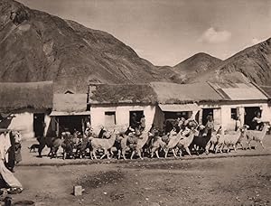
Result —
[[52, 81], [0, 83], [0, 128], [20, 130], [23, 138], [47, 133]]

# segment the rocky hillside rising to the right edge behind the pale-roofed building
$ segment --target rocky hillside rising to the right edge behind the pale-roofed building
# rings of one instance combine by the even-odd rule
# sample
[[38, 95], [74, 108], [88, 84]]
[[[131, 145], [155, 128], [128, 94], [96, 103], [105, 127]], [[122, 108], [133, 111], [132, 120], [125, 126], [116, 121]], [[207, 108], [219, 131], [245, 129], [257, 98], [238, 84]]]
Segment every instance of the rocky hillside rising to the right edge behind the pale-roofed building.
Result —
[[258, 85], [271, 85], [271, 38], [238, 52], [204, 74], [187, 82], [195, 81], [247, 81]]

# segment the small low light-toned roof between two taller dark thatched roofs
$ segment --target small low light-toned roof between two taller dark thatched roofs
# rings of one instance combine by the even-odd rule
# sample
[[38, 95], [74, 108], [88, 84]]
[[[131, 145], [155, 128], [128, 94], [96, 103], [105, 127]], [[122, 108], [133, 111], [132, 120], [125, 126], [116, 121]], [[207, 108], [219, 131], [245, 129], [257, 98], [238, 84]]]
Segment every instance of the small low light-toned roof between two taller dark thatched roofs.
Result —
[[87, 110], [87, 94], [54, 94], [53, 111], [82, 112]]

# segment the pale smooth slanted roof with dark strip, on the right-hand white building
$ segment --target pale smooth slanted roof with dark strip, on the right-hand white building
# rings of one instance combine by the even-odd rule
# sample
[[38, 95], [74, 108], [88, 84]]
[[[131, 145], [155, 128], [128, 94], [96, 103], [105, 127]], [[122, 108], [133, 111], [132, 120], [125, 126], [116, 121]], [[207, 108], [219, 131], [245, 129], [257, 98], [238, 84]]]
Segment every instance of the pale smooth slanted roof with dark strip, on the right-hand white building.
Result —
[[[209, 82], [210, 83], [210, 82]], [[210, 83], [225, 100], [266, 100], [264, 92], [253, 83]]]

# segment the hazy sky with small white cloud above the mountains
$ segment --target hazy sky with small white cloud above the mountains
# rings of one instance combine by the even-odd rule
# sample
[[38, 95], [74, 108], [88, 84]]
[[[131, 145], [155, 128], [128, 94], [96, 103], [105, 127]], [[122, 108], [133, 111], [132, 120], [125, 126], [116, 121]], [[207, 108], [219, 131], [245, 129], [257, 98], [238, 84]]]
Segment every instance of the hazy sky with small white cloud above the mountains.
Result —
[[220, 59], [271, 37], [271, 0], [19, 0], [113, 34], [155, 65]]

